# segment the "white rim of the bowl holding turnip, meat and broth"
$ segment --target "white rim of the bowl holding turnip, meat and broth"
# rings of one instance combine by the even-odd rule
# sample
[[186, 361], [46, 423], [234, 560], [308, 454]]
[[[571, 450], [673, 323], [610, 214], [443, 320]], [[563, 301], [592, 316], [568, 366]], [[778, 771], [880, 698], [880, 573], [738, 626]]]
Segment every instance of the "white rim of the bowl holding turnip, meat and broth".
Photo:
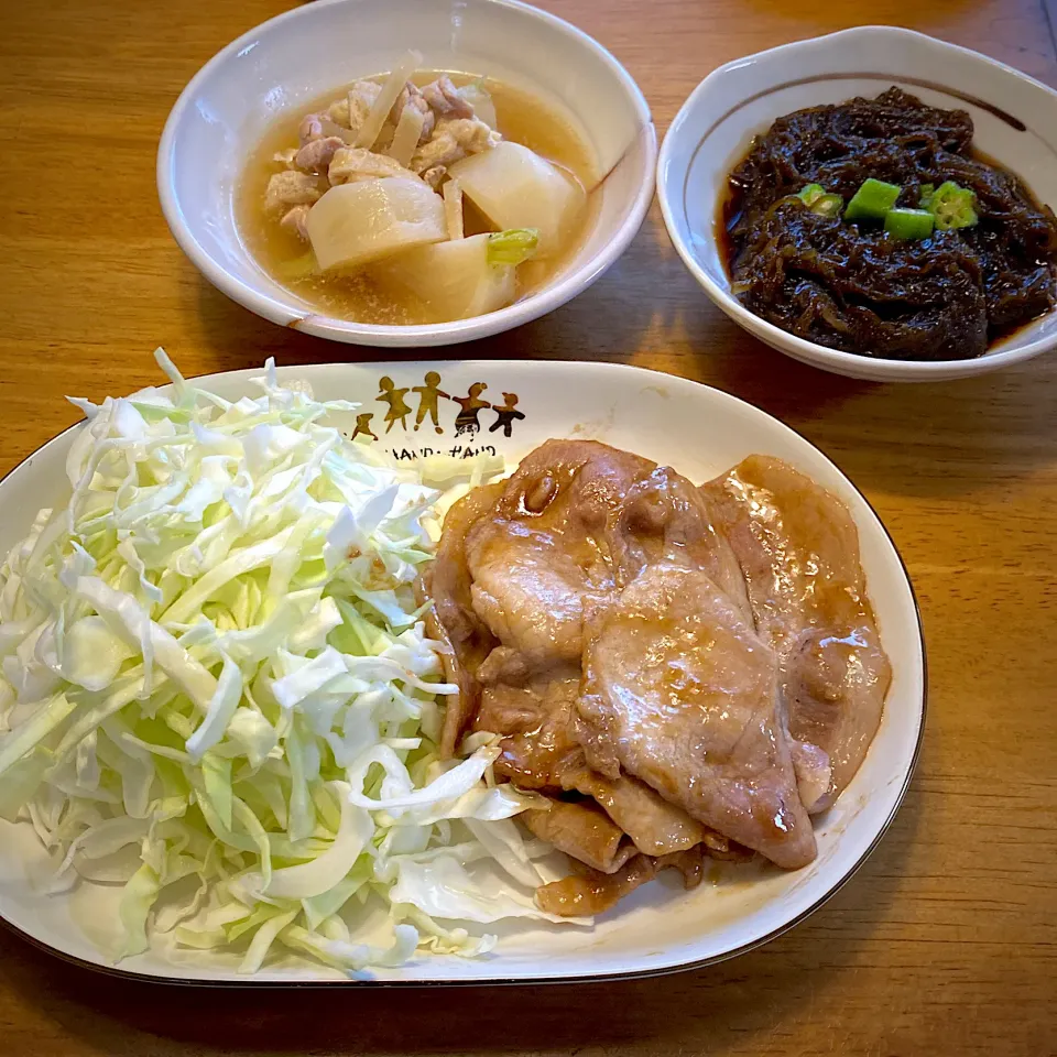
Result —
[[[527, 297], [514, 302], [514, 304], [508, 305], [505, 308], [500, 308], [497, 312], [487, 313], [482, 316], [471, 316], [469, 319], [457, 319], [451, 323], [442, 324], [381, 326], [378, 324], [337, 319], [319, 315], [310, 309], [306, 309], [303, 313], [296, 312], [281, 304], [269, 294], [261, 293], [242, 282], [242, 280], [236, 279], [204, 249], [192, 233], [176, 199], [171, 171], [175, 165], [174, 146], [177, 129], [183, 121], [185, 111], [190, 107], [199, 88], [233, 56], [238, 56], [238, 54], [251, 44], [262, 32], [272, 32], [283, 23], [306, 17], [306, 12], [318, 9], [319, 7], [366, 2], [370, 2], [370, 0], [315, 0], [312, 4], [284, 11], [247, 30], [247, 32], [217, 52], [198, 69], [194, 77], [190, 78], [184, 87], [184, 90], [177, 97], [173, 109], [165, 120], [165, 127], [162, 130], [161, 140], [157, 145], [155, 167], [157, 194], [161, 201], [162, 214], [168, 224], [173, 238], [190, 262], [214, 286], [244, 308], [249, 308], [251, 312], [280, 326], [287, 326], [295, 330], [337, 341], [362, 345], [375, 344], [390, 347], [429, 346], [468, 341], [475, 338], [489, 337], [490, 335], [509, 330], [524, 323], [530, 323], [566, 304], [598, 280], [618, 258], [620, 258], [624, 250], [631, 244], [632, 239], [639, 233], [639, 229], [642, 227], [646, 211], [650, 208], [650, 203], [653, 199], [656, 184], [657, 133], [653, 123], [653, 116], [650, 111], [650, 105], [646, 102], [642, 89], [612, 52], [584, 30], [575, 26], [571, 22], [567, 22], [565, 19], [560, 19], [530, 3], [524, 3], [522, 0], [484, 0], [484, 2], [500, 8], [510, 8], [535, 18], [541, 22], [549, 24], [560, 33], [575, 39], [584, 47], [593, 52], [624, 88], [629, 102], [634, 107], [639, 119], [640, 131], [638, 133], [638, 140], [644, 149], [644, 178], [639, 186], [626, 216], [620, 228], [614, 232], [613, 238], [610, 239], [606, 247], [591, 260], [586, 261], [575, 272], [569, 272], [560, 276], [554, 284], [537, 293], [530, 294]], [[634, 145], [633, 143], [629, 144], [628, 151]], [[622, 155], [622, 157], [623, 156], [625, 155]], [[620, 165], [621, 162], [617, 164]]]

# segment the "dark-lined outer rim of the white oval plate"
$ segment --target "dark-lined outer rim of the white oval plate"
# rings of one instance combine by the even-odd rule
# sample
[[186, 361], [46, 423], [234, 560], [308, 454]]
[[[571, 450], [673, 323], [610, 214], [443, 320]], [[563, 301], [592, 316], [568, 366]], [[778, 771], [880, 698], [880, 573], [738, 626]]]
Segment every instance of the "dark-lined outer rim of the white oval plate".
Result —
[[[359, 362], [345, 362], [345, 361], [330, 361], [325, 363], [314, 363], [314, 364], [297, 364], [290, 363], [283, 364], [277, 368], [280, 375], [294, 375], [296, 377], [299, 372], [303, 372], [306, 367], [310, 370], [344, 370], [349, 368], [364, 368], [369, 367], [372, 371], [385, 372], [397, 371], [400, 369], [405, 369], [411, 364], [421, 362], [423, 366], [426, 366], [426, 361], [388, 361], [388, 362], [371, 362], [359, 363]], [[521, 361], [509, 361], [502, 359], [468, 359], [468, 360], [436, 360], [428, 361], [428, 367], [433, 370], [444, 371], [446, 368], [458, 366], [460, 368], [480, 368], [482, 371], [489, 370], [493, 371], [497, 368], [502, 368], [504, 363], [508, 362], [521, 362]], [[829, 462], [830, 466], [837, 472], [837, 476], [848, 488], [848, 490], [856, 495], [858, 495], [862, 502], [865, 504], [867, 510], [870, 513], [870, 516], [876, 522], [876, 525], [881, 528], [882, 535], [884, 536], [885, 542], [892, 551], [892, 554], [895, 555], [896, 562], [898, 563], [900, 569], [903, 574], [902, 585], [905, 586], [907, 595], [909, 596], [909, 601], [914, 611], [914, 617], [916, 621], [916, 632], [917, 632], [917, 644], [920, 651], [922, 660], [922, 686], [920, 686], [920, 712], [917, 717], [917, 737], [914, 742], [913, 751], [911, 752], [909, 760], [906, 764], [906, 773], [903, 776], [903, 781], [900, 785], [898, 794], [895, 800], [892, 804], [891, 810], [883, 821], [878, 826], [876, 832], [874, 833], [872, 840], [863, 850], [859, 859], [856, 860], [844, 872], [844, 874], [839, 878], [832, 885], [821, 892], [818, 898], [811, 903], [810, 906], [806, 907], [803, 912], [797, 914], [795, 917], [792, 917], [787, 920], [782, 922], [780, 925], [776, 925], [773, 929], [766, 933], [763, 936], [760, 936], [755, 939], [749, 940], [742, 944], [739, 947], [732, 948], [730, 950], [722, 951], [718, 955], [712, 955], [706, 958], [699, 958], [694, 961], [677, 962], [674, 965], [652, 967], [649, 969], [639, 969], [639, 970], [623, 970], [607, 972], [600, 971], [590, 974], [568, 974], [568, 976], [549, 976], [549, 977], [535, 977], [535, 978], [524, 978], [524, 977], [495, 977], [491, 979], [439, 979], [439, 980], [391, 980], [391, 979], [369, 979], [369, 980], [255, 980], [252, 977], [241, 980], [210, 980], [210, 979], [190, 979], [178, 976], [155, 976], [153, 973], [140, 972], [138, 970], [131, 969], [121, 969], [117, 966], [107, 965], [103, 962], [88, 961], [84, 958], [80, 958], [77, 955], [69, 954], [66, 950], [63, 950], [58, 947], [53, 947], [51, 944], [37, 938], [36, 936], [24, 931], [18, 925], [8, 922], [2, 914], [0, 914], [0, 927], [8, 929], [15, 936], [19, 936], [21, 939], [24, 939], [26, 942], [33, 945], [45, 954], [52, 955], [55, 958], [58, 958], [62, 961], [65, 961], [69, 965], [77, 966], [81, 969], [90, 970], [91, 972], [98, 972], [108, 977], [117, 977], [126, 980], [138, 980], [150, 983], [163, 984], [166, 987], [196, 987], [196, 988], [225, 988], [225, 989], [241, 989], [241, 988], [335, 988], [335, 987], [356, 987], [356, 988], [491, 988], [491, 987], [535, 987], [537, 984], [559, 984], [559, 983], [571, 983], [571, 984], [589, 984], [589, 983], [602, 983], [602, 982], [612, 982], [618, 980], [641, 980], [649, 979], [653, 977], [665, 977], [672, 976], [677, 972], [686, 972], [695, 969], [702, 969], [708, 966], [719, 965], [723, 961], [730, 961], [733, 958], [740, 957], [741, 955], [747, 955], [750, 951], [758, 950], [759, 948], [765, 946], [774, 939], [777, 939], [780, 936], [785, 935], [791, 929], [795, 928], [802, 922], [810, 917], [816, 911], [820, 909], [826, 903], [828, 903], [858, 872], [862, 869], [867, 860], [873, 854], [876, 850], [878, 844], [881, 843], [881, 840], [887, 833], [889, 829], [892, 826], [892, 822], [895, 819], [895, 816], [898, 814], [900, 809], [903, 806], [903, 802], [906, 799], [906, 794], [911, 787], [911, 782], [914, 778], [914, 775], [917, 771], [917, 765], [920, 760], [922, 747], [925, 740], [925, 728], [928, 719], [928, 651], [925, 642], [925, 625], [922, 620], [922, 609], [917, 600], [917, 593], [914, 590], [914, 581], [911, 579], [909, 569], [906, 566], [906, 562], [903, 558], [902, 553], [900, 552], [898, 546], [895, 543], [895, 540], [892, 537], [891, 532], [889, 532], [887, 526], [881, 519], [881, 515], [878, 513], [876, 508], [862, 490], [844, 473], [843, 470], [833, 462], [832, 459], [826, 453], [815, 445], [813, 442], [808, 440], [802, 433], [794, 429], [792, 426], [787, 425], [781, 418], [770, 414], [764, 411], [762, 407], [758, 407], [755, 404], [750, 403], [747, 400], [742, 400], [740, 396], [735, 396], [732, 393], [728, 393], [724, 390], [717, 389], [713, 385], [706, 385], [704, 382], [696, 382], [691, 379], [685, 379], [680, 375], [666, 374], [663, 371], [654, 371], [650, 368], [638, 367], [632, 363], [612, 363], [604, 360], [599, 361], [581, 361], [581, 360], [551, 360], [548, 361], [548, 367], [559, 372], [568, 372], [574, 379], [576, 373], [582, 370], [585, 367], [590, 368], [591, 370], [612, 370], [614, 372], [626, 372], [633, 374], [655, 374], [658, 379], [663, 379], [666, 384], [679, 384], [686, 386], [699, 385], [701, 389], [707, 389], [712, 392], [716, 396], [721, 400], [729, 402], [730, 404], [739, 405], [744, 410], [744, 413], [751, 416], [762, 416], [763, 418], [769, 419], [773, 425], [777, 426], [780, 432], [785, 432], [792, 434], [798, 440], [806, 444], [809, 448], [816, 451], [825, 461]], [[250, 378], [260, 377], [259, 368], [247, 368], [242, 370], [233, 371], [214, 371], [208, 374], [199, 375], [188, 375], [187, 381], [194, 381], [196, 385], [200, 388], [208, 389], [208, 383], [217, 379], [230, 379], [230, 380], [248, 380]], [[168, 386], [161, 386], [164, 391]], [[79, 429], [85, 425], [85, 419], [75, 422], [73, 425], [67, 426], [65, 429], [57, 433], [50, 440], [46, 440], [34, 451], [28, 455], [21, 462], [12, 467], [7, 473], [0, 477], [0, 486], [3, 484], [10, 477], [14, 476], [18, 472], [23, 472], [29, 470], [30, 464], [34, 458], [43, 451], [45, 448], [50, 447], [53, 444], [56, 444], [61, 438], [66, 436], [66, 434]]]

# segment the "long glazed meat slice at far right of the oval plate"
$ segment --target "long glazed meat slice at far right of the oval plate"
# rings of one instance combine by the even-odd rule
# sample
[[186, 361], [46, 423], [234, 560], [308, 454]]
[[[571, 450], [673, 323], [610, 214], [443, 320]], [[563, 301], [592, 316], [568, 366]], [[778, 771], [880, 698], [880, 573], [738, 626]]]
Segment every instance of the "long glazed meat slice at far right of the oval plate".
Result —
[[[705, 487], [744, 573], [756, 631], [782, 667], [789, 733], [813, 811], [854, 777], [876, 733], [892, 669], [865, 593], [844, 504], [780, 459], [751, 456]], [[830, 769], [829, 787], [816, 796]]]

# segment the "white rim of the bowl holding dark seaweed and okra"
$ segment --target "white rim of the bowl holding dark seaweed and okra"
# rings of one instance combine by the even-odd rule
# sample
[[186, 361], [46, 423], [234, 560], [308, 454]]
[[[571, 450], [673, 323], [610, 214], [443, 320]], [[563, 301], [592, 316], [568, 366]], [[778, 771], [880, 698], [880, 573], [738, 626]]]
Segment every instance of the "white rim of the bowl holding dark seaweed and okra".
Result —
[[[800, 47], [817, 45], [822, 42], [836, 45], [841, 37], [848, 39], [851, 36], [869, 35], [887, 35], [903, 40], [913, 37], [918, 41], [927, 41], [929, 45], [941, 51], [957, 52], [977, 62], [985, 63], [995, 69], [1002, 70], [1003, 73], [1015, 77], [1017, 80], [1042, 89], [1055, 101], [1057, 101], [1057, 91], [1055, 91], [1048, 85], [1044, 85], [1040, 80], [1036, 80], [1034, 77], [1028, 76], [1023, 70], [1016, 69], [1013, 66], [1009, 66], [1005, 63], [1001, 63], [996, 58], [991, 58], [990, 55], [984, 55], [981, 52], [973, 51], [970, 47], [962, 47], [960, 44], [950, 44], [947, 41], [939, 40], [938, 37], [929, 36], [927, 33], [918, 33], [916, 30], [907, 30], [898, 25], [857, 25], [847, 30], [838, 30], [835, 33], [825, 33], [820, 36], [806, 37], [803, 41], [791, 41], [788, 44], [780, 44], [776, 47], [769, 47], [762, 52], [756, 52], [753, 55], [744, 55], [741, 58], [735, 58], [732, 62], [724, 63], [722, 66], [718, 66], [694, 89], [694, 91], [690, 92], [686, 101], [679, 108], [678, 113], [676, 113], [672, 124], [668, 127], [668, 131], [665, 133], [664, 142], [661, 145], [661, 153], [657, 159], [657, 172], [663, 173], [665, 171], [668, 162], [671, 161], [672, 152], [674, 150], [673, 144], [675, 143], [676, 137], [679, 135], [683, 130], [683, 126], [689, 120], [690, 111], [697, 105], [698, 99], [726, 74], [729, 74], [732, 70], [747, 65], [748, 63], [775, 55], [778, 52], [791, 50], [795, 51]], [[894, 76], [897, 80], [898, 76]], [[744, 329], [747, 329], [750, 334], [763, 340], [773, 341], [778, 348], [785, 347], [789, 350], [791, 356], [796, 357], [803, 362], [811, 363], [819, 368], [822, 368], [824, 364], [826, 364], [826, 367], [832, 368], [838, 372], [842, 372], [842, 369], [847, 368], [849, 374], [853, 374], [853, 371], [851, 370], [852, 368], [858, 367], [861, 370], [863, 363], [869, 363], [876, 367], [876, 372], [869, 375], [874, 380], [879, 379], [885, 370], [891, 369], [892, 371], [897, 370], [901, 373], [905, 372], [905, 375], [913, 373], [916, 375], [913, 379], [914, 381], [926, 382], [931, 380], [934, 377], [936, 377], [936, 380], [948, 379], [950, 377], [949, 372], [955, 364], [957, 364], [959, 378], [987, 374], [991, 371], [1000, 370], [1003, 367], [1009, 367], [1011, 363], [1020, 363], [1023, 360], [1028, 360], [1034, 356], [1045, 352], [1047, 349], [1053, 348], [1054, 346], [1055, 338], [1053, 335], [1049, 335], [1047, 337], [1037, 338], [1036, 340], [1021, 346], [1020, 348], [1007, 349], [1005, 351], [1000, 350], [996, 352], [984, 352], [983, 356], [976, 357], [974, 359], [893, 360], [885, 359], [883, 357], [860, 356], [857, 352], [842, 352], [839, 349], [829, 349], [824, 345], [817, 345], [816, 342], [808, 341], [805, 338], [798, 338], [796, 335], [789, 334], [788, 330], [783, 330], [773, 323], [769, 323], [766, 319], [758, 316], [755, 313], [750, 312], [744, 305], [742, 305], [740, 301], [738, 301], [737, 297], [733, 296], [733, 294], [730, 293], [730, 291], [723, 290], [723, 287], [715, 282], [715, 280], [712, 280], [705, 269], [701, 268], [690, 248], [677, 233], [675, 213], [672, 203], [668, 199], [667, 192], [665, 190], [665, 181], [663, 178], [657, 181], [657, 198], [661, 203], [661, 215], [664, 217], [664, 226], [668, 229], [668, 236], [672, 239], [672, 244], [683, 259], [683, 263], [687, 266], [698, 283], [700, 283], [708, 296], [728, 316], [730, 316], [731, 319], [741, 324], [741, 326], [744, 327]], [[1051, 308], [1050, 312], [1057, 312], [1057, 308]], [[891, 380], [905, 381], [907, 378], [904, 377], [903, 379], [895, 379], [893, 377]]]

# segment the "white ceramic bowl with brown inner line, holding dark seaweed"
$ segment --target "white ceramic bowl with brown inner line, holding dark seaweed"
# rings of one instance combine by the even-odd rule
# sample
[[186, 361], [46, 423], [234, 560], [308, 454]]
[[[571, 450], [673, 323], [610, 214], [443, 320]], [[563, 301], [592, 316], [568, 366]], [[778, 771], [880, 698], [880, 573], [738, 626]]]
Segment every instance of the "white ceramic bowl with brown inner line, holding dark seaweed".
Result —
[[977, 52], [887, 25], [799, 41], [728, 63], [702, 80], [661, 149], [657, 195], [672, 241], [694, 277], [728, 316], [761, 341], [826, 371], [876, 381], [939, 381], [983, 374], [1057, 345], [1050, 312], [972, 360], [883, 360], [832, 349], [766, 323], [731, 293], [715, 238], [727, 176], [782, 115], [876, 96], [897, 85], [925, 102], [968, 110], [974, 144], [1057, 203], [1057, 92]]

